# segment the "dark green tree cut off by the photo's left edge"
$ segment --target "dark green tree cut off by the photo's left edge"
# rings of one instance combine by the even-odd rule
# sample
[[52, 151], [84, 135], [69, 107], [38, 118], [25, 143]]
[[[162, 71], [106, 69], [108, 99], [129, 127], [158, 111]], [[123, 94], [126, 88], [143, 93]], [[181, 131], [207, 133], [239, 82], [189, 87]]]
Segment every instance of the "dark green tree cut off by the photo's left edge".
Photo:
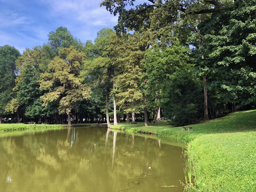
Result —
[[0, 47], [0, 123], [3, 115], [6, 115], [6, 105], [14, 97], [12, 90], [15, 87], [17, 76], [16, 60], [20, 52], [9, 45]]

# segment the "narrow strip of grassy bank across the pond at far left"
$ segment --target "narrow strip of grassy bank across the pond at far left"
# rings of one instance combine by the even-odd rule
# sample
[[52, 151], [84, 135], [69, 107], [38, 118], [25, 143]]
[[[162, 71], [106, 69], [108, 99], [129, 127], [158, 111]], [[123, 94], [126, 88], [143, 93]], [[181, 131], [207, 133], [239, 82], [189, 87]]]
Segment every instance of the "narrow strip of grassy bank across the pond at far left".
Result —
[[61, 128], [61, 125], [47, 125], [47, 124], [0, 124], [0, 132], [7, 132], [7, 131], [23, 131], [29, 129], [49, 129], [49, 128]]

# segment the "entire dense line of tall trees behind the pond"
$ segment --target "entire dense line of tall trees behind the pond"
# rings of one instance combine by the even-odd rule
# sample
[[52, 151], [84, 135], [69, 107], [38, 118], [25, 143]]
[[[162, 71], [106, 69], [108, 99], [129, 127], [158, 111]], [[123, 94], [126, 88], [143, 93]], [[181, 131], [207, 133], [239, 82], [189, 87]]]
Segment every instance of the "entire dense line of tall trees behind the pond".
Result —
[[65, 27], [22, 55], [0, 47], [0, 122], [156, 119], [174, 125], [255, 108], [254, 0], [104, 0], [112, 29]]

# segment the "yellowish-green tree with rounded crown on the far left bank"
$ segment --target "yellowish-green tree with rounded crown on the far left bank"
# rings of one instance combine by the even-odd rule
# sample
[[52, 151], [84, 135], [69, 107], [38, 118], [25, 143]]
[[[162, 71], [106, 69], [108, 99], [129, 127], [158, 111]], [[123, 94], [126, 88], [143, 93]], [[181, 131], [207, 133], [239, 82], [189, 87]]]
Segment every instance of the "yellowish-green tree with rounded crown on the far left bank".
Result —
[[61, 49], [59, 54], [49, 63], [48, 72], [41, 75], [40, 89], [47, 90], [41, 99], [44, 106], [59, 99], [58, 111], [68, 115], [68, 125], [71, 125], [71, 110], [76, 102], [90, 98], [91, 89], [82, 84], [79, 77], [84, 53], [70, 47]]

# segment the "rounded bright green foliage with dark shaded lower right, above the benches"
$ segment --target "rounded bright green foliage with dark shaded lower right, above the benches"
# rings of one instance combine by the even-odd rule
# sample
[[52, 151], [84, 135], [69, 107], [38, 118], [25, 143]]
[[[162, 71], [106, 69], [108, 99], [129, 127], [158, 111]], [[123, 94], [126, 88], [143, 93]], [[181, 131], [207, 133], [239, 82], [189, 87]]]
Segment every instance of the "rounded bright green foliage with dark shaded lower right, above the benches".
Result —
[[152, 47], [146, 55], [148, 90], [153, 99], [158, 96], [158, 105], [175, 126], [187, 125], [201, 115], [201, 82], [190, 63], [189, 49], [179, 42], [166, 49]]

